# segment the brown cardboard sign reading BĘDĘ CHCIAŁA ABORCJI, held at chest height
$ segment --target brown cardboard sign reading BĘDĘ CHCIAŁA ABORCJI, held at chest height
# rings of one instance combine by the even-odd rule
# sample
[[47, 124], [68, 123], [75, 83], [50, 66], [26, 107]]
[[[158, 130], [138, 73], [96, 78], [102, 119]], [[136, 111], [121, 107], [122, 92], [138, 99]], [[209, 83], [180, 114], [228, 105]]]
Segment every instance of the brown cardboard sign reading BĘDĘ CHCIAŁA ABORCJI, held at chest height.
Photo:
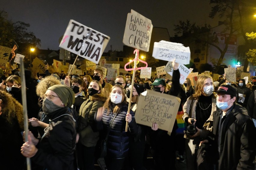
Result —
[[161, 94], [152, 90], [141, 93], [136, 109], [136, 123], [158, 129], [172, 131], [181, 99], [172, 95]]

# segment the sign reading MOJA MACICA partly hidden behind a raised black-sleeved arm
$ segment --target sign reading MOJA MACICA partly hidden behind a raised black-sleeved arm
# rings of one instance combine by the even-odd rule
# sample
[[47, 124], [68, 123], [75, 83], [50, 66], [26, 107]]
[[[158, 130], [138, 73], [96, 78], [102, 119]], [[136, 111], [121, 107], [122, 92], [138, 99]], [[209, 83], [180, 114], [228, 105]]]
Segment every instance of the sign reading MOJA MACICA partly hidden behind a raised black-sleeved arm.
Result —
[[[190, 69], [188, 69], [184, 64], [179, 63], [178, 66], [179, 72], [180, 72], [180, 84], [183, 84], [186, 80], [187, 76], [191, 72]], [[164, 70], [172, 76], [173, 73], [173, 67], [172, 67], [172, 61], [169, 61], [166, 66], [164, 67]]]

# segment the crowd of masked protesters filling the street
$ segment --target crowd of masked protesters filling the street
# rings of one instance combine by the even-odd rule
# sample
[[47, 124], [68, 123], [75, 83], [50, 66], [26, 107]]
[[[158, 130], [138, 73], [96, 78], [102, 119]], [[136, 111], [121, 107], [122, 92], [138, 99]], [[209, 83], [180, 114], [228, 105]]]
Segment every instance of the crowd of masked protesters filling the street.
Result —
[[[44, 74], [25, 69], [26, 82], [17, 69], [0, 69], [1, 169], [26, 169], [26, 157], [36, 170], [169, 170], [185, 159], [189, 170], [255, 169], [256, 77], [246, 84], [243, 78], [230, 82], [225, 75], [214, 80], [203, 74], [193, 86], [189, 78], [180, 84], [178, 63], [172, 67], [171, 80], [157, 74], [142, 79], [136, 73], [134, 86], [132, 74], [109, 80], [101, 69], [68, 75], [50, 73], [46, 65]], [[157, 123], [136, 123], [139, 96], [146, 89], [181, 99], [171, 133]]]

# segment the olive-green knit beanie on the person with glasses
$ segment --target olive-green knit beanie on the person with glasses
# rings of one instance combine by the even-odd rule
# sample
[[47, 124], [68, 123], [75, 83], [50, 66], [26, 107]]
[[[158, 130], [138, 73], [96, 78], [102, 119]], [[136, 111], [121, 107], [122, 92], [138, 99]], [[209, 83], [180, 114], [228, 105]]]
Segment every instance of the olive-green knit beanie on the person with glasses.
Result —
[[49, 87], [47, 90], [55, 92], [64, 103], [65, 107], [71, 107], [75, 102], [75, 93], [68, 86], [57, 84]]

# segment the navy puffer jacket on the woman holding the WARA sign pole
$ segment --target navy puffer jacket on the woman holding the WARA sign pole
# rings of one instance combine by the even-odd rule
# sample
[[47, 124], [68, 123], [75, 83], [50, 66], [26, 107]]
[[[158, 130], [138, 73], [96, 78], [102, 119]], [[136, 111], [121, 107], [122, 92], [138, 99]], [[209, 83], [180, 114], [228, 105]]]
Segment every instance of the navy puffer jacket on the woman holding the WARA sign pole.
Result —
[[[121, 108], [121, 112], [117, 114], [117, 116], [114, 119], [114, 122], [111, 126], [109, 136], [108, 136], [108, 144], [107, 144], [107, 157], [112, 158], [124, 158], [129, 150], [129, 136], [128, 133], [131, 133], [131, 136], [136, 136], [138, 133], [137, 124], [134, 118], [134, 112], [130, 110], [130, 114], [132, 115], [133, 120], [128, 123], [129, 130], [128, 132], [125, 132], [125, 117], [127, 114], [128, 106], [124, 105]], [[111, 121], [113, 120], [116, 113], [112, 112], [112, 109], [110, 110], [110, 113], [107, 115], [107, 109], [104, 110], [103, 116], [102, 116], [102, 125], [103, 125], [103, 131], [106, 135], [109, 129], [109, 126], [111, 124]]]

